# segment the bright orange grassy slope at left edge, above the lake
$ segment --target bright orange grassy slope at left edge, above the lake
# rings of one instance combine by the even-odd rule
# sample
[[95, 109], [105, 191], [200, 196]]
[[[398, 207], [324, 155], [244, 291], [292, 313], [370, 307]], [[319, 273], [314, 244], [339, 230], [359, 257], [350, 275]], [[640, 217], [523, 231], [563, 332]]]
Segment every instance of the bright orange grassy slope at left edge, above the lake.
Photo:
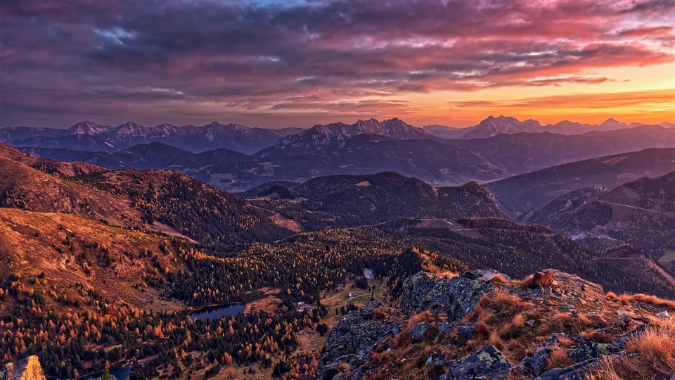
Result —
[[52, 307], [68, 306], [56, 302], [64, 297], [85, 300], [92, 289], [136, 308], [182, 308], [148, 286], [181, 267], [175, 245], [167, 236], [79, 215], [0, 208], [0, 277], [18, 275], [20, 286], [43, 293]]

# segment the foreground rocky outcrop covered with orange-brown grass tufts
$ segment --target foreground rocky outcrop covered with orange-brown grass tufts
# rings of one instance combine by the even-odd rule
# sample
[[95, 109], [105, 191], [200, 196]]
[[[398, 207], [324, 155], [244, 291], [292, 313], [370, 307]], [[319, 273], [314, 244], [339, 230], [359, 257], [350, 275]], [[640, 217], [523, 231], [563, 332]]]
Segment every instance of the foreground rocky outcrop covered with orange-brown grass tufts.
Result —
[[420, 272], [402, 287], [395, 307], [371, 299], [340, 319], [319, 379], [584, 379], [645, 332], [675, 332], [675, 302], [618, 297], [553, 269]]

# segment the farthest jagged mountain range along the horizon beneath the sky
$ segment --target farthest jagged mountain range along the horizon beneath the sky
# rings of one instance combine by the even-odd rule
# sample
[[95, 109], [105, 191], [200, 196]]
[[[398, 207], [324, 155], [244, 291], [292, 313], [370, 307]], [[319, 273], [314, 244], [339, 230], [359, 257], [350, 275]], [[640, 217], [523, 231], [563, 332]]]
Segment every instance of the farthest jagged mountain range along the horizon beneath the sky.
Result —
[[[309, 129], [283, 128], [266, 129], [246, 127], [239, 124], [212, 122], [207, 125], [184, 125], [176, 127], [160, 124], [146, 127], [127, 122], [117, 127], [98, 125], [84, 121], [68, 129], [45, 127], [5, 127], [0, 129], [0, 141], [12, 146], [34, 146], [41, 148], [70, 148], [82, 151], [120, 151], [137, 144], [162, 142], [192, 152], [209, 151], [219, 148], [231, 149], [246, 154], [262, 151], [261, 155], [290, 156], [297, 148], [304, 146], [304, 153], [311, 153], [311, 146], [330, 146], [336, 142], [354, 137], [356, 134], [378, 134], [393, 139], [485, 139], [498, 134], [522, 132], [550, 132], [555, 134], [584, 134], [593, 131], [607, 132], [615, 129], [637, 127], [640, 123], [626, 124], [608, 119], [600, 125], [580, 124], [563, 120], [555, 125], [541, 126], [536, 120], [520, 121], [499, 116], [482, 120], [467, 128], [428, 125], [412, 127], [402, 120], [393, 118], [359, 120], [352, 125], [342, 122], [316, 125]], [[662, 127], [675, 127], [664, 122]], [[288, 138], [286, 138], [288, 137]], [[309, 149], [309, 151], [307, 151]]]

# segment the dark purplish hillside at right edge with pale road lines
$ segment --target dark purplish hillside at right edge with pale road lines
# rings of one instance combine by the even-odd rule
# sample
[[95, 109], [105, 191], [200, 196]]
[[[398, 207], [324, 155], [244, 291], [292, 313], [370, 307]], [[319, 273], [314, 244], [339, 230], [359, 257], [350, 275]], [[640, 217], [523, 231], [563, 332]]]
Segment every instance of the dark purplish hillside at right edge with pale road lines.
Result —
[[560, 196], [520, 220], [546, 224], [596, 249], [631, 243], [675, 274], [675, 172], [593, 190]]

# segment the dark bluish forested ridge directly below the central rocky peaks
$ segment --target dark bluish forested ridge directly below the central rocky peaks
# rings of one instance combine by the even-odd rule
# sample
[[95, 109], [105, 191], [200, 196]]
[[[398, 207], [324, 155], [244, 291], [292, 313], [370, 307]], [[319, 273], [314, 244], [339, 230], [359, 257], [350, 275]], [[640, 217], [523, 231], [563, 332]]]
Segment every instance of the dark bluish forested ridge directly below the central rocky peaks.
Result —
[[221, 189], [245, 191], [266, 182], [305, 182], [326, 175], [383, 171], [416, 177], [434, 186], [463, 184], [474, 179], [488, 181], [509, 175], [484, 156], [437, 141], [359, 134], [314, 154], [214, 165], [195, 177]]

